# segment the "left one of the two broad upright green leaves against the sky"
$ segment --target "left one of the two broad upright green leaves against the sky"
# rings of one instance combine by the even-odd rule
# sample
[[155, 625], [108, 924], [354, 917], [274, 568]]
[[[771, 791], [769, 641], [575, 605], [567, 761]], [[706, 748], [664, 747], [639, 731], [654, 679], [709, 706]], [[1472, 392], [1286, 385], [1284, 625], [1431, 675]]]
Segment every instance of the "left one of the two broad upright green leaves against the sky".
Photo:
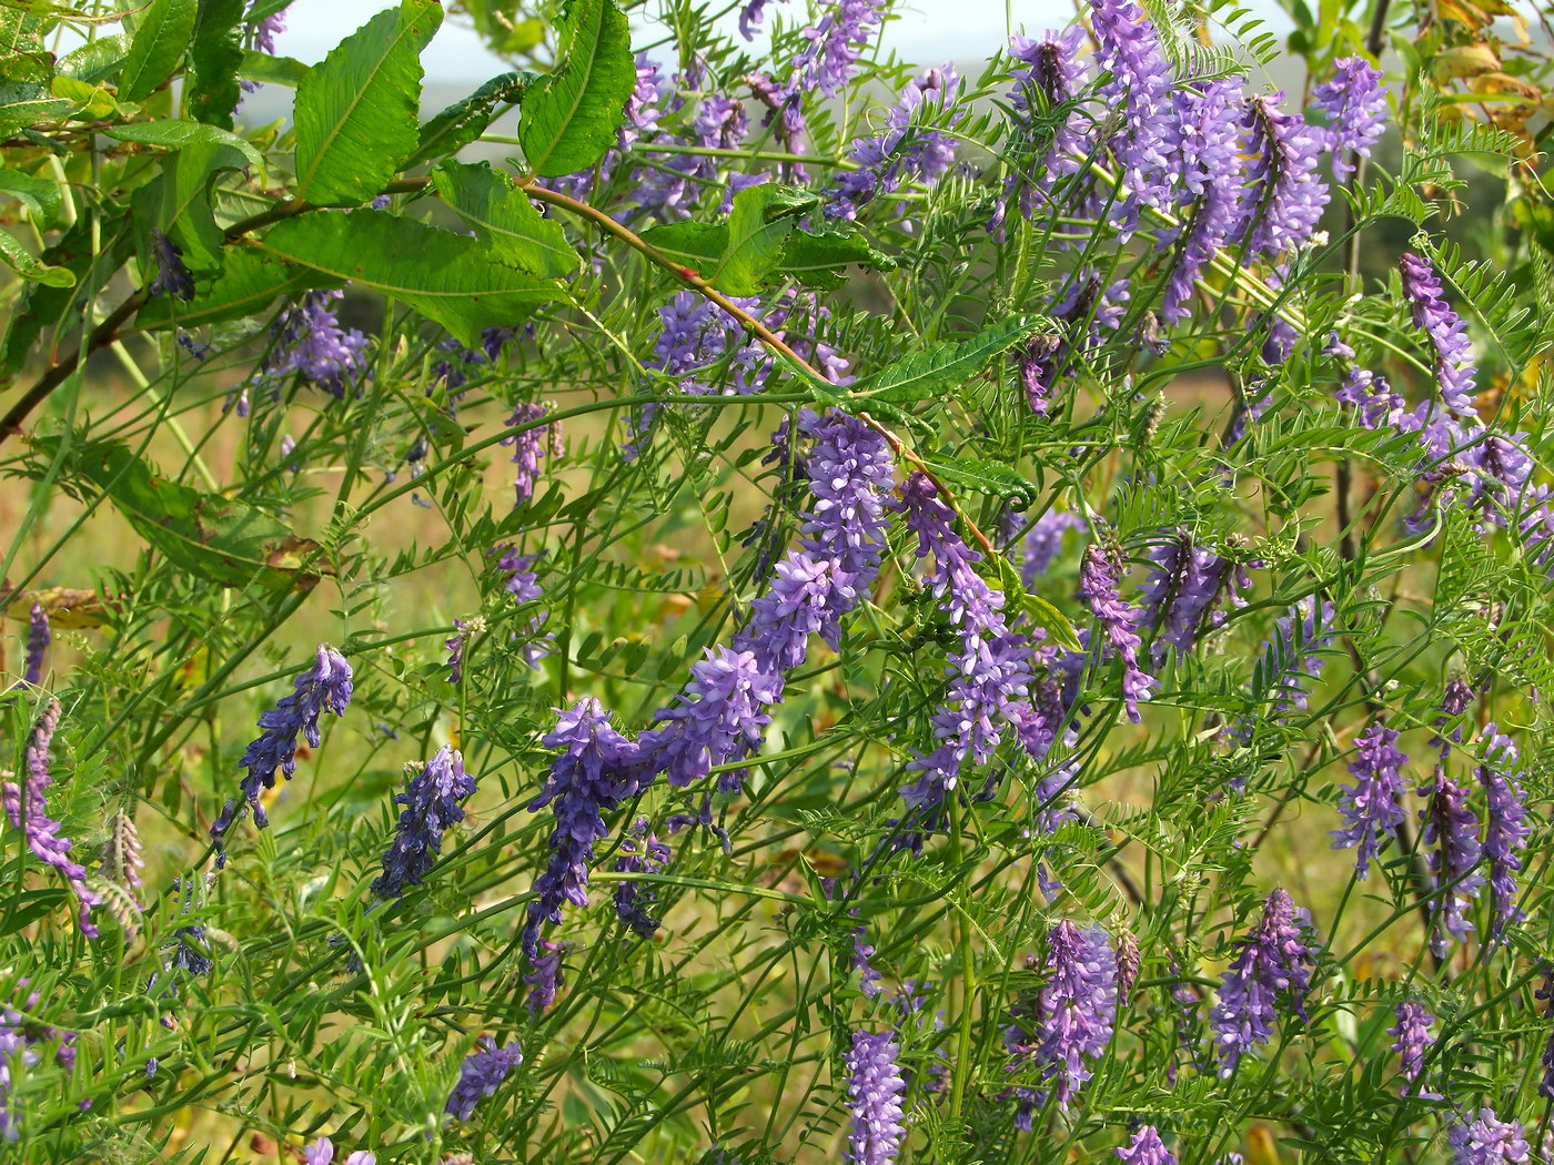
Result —
[[421, 50], [437, 0], [384, 9], [297, 84], [297, 193], [320, 207], [376, 196], [416, 148]]

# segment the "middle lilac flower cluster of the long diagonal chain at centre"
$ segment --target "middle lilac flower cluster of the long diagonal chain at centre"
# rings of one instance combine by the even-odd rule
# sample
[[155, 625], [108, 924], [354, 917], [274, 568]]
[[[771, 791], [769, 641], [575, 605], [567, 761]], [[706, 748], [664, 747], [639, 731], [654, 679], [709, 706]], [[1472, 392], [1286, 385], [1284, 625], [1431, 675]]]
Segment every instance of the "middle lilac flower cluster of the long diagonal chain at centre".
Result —
[[[782, 677], [765, 669], [754, 651], [713, 648], [692, 665], [692, 677], [674, 704], [657, 713], [651, 732], [657, 763], [674, 786], [693, 784], [720, 766], [752, 755], [771, 724], [765, 710], [782, 696]], [[720, 792], [738, 792], [743, 770], [718, 774]]]

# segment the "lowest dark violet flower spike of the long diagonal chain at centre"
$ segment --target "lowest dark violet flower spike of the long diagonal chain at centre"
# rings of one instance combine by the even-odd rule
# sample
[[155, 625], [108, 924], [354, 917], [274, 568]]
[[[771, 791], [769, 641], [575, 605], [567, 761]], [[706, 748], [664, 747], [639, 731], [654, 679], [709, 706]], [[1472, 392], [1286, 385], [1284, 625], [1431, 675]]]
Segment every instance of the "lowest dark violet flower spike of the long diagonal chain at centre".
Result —
[[558, 711], [556, 727], [541, 741], [561, 749], [550, 763], [545, 788], [528, 803], [530, 812], [550, 808], [555, 828], [550, 856], [535, 879], [535, 896], [524, 923], [524, 954], [539, 958], [539, 932], [561, 921], [561, 904], [587, 906], [594, 847], [609, 829], [605, 812], [614, 811], [636, 784], [639, 749], [609, 724], [609, 713], [592, 696]]

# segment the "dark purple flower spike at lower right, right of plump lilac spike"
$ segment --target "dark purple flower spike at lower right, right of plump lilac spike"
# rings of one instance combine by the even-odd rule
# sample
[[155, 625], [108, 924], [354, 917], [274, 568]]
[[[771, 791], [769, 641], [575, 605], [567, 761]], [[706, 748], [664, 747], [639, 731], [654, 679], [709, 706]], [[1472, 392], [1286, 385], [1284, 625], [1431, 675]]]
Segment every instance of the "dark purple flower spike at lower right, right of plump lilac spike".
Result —
[[1310, 916], [1290, 895], [1274, 890], [1263, 902], [1262, 920], [1245, 938], [1220, 983], [1220, 999], [1209, 1013], [1220, 1055], [1220, 1075], [1229, 1076], [1243, 1053], [1273, 1036], [1276, 1003], [1285, 999], [1305, 1019], [1315, 960], [1308, 944]]

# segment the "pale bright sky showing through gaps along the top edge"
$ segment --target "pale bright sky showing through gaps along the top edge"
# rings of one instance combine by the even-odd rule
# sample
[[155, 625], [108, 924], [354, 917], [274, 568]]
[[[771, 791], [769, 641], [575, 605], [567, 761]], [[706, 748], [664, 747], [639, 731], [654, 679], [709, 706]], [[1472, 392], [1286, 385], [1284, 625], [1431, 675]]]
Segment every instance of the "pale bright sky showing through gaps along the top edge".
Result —
[[[295, 0], [286, 11], [287, 28], [277, 37], [275, 48], [284, 56], [315, 64], [388, 3], [390, 0]], [[1061, 26], [1074, 16], [1074, 5], [1068, 0], [1007, 3], [1016, 31], [1021, 26], [1027, 33]], [[1271, 3], [1253, 6], [1260, 11], [1274, 8]], [[768, 11], [785, 11], [785, 6], [771, 3]], [[789, 0], [786, 11], [800, 12], [800, 0]], [[1005, 0], [908, 0], [898, 8], [898, 14], [900, 19], [886, 30], [884, 45], [894, 48], [903, 61], [918, 65], [981, 61], [1004, 42], [1009, 28]], [[1280, 23], [1287, 26], [1287, 22]], [[507, 68], [458, 17], [444, 22], [421, 62], [429, 82], [471, 82], [471, 87]]]

